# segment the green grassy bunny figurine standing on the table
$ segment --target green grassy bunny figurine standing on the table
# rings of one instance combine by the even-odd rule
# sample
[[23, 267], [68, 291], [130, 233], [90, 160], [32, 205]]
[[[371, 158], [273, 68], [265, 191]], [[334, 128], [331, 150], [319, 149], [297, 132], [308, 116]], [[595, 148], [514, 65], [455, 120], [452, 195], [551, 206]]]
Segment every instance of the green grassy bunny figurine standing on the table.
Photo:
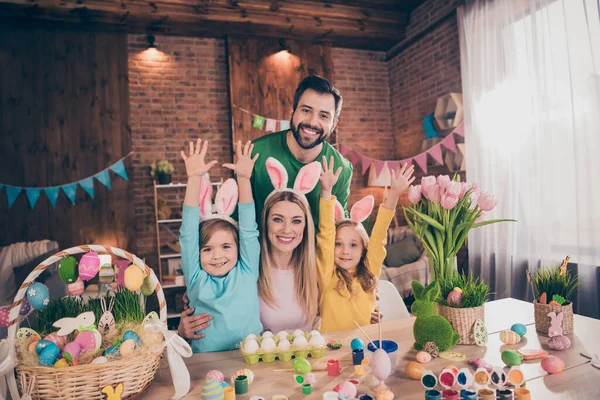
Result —
[[434, 342], [440, 351], [446, 351], [456, 345], [460, 335], [452, 329], [448, 320], [433, 312], [433, 301], [440, 294], [440, 286], [436, 281], [423, 287], [420, 282], [412, 282], [415, 302], [412, 305], [412, 313], [417, 317], [413, 325], [415, 337], [415, 349], [422, 350], [427, 342]]

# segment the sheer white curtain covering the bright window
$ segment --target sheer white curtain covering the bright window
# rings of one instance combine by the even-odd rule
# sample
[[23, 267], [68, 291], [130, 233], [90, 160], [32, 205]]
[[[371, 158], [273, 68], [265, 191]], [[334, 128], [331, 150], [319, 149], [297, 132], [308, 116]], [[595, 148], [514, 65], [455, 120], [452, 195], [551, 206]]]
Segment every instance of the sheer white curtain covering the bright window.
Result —
[[600, 299], [598, 0], [467, 0], [458, 11], [467, 178], [499, 199], [469, 267], [496, 298], [531, 300], [525, 270], [560, 264]]

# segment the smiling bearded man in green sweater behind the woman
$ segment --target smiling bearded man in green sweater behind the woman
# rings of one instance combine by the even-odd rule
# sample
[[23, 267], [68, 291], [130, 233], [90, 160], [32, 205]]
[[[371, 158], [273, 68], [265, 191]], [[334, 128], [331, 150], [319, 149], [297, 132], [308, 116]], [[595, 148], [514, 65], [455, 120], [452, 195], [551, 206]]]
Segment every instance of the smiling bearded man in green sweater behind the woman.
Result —
[[[317, 75], [304, 78], [294, 95], [290, 129], [271, 133], [256, 139], [254, 154], [260, 157], [254, 164], [251, 183], [256, 217], [260, 220], [267, 196], [273, 191], [265, 162], [276, 158], [287, 170], [288, 187], [293, 186], [300, 168], [313, 161], [334, 158], [334, 165], [342, 167], [342, 173], [333, 187], [332, 194], [346, 209], [352, 180], [352, 164], [346, 160], [326, 139], [335, 130], [342, 111], [342, 96], [327, 79]], [[253, 155], [254, 155], [253, 154]], [[321, 183], [306, 195], [315, 226], [319, 223], [319, 194]]]

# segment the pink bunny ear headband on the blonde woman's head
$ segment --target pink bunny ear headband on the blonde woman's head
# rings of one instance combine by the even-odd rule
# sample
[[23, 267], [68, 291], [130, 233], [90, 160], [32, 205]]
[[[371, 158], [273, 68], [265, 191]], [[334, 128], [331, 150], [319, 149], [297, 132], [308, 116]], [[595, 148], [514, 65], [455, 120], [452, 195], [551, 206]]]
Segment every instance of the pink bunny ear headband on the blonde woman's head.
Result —
[[294, 181], [293, 189], [287, 187], [288, 174], [285, 167], [279, 161], [273, 157], [269, 157], [267, 158], [265, 166], [267, 167], [269, 178], [271, 178], [271, 183], [275, 187], [275, 190], [273, 190], [269, 196], [273, 195], [273, 193], [282, 191], [296, 192], [300, 194], [300, 197], [304, 199], [306, 204], [308, 204], [308, 200], [306, 200], [305, 195], [310, 193], [315, 186], [317, 186], [317, 183], [319, 183], [319, 177], [321, 176], [321, 163], [318, 161], [313, 161], [310, 164], [306, 164], [304, 167], [300, 168], [300, 171], [298, 171], [298, 175], [296, 176], [296, 180]]

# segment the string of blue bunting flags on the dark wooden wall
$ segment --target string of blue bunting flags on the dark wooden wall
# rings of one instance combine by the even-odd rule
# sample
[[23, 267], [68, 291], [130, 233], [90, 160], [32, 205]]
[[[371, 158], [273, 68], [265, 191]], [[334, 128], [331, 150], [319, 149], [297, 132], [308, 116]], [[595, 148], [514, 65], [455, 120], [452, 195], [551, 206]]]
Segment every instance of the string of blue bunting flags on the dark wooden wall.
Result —
[[17, 197], [19, 197], [19, 195], [22, 192], [25, 192], [27, 200], [29, 201], [29, 207], [31, 207], [32, 210], [35, 207], [42, 192], [46, 194], [46, 197], [48, 197], [50, 204], [52, 204], [52, 208], [56, 206], [56, 200], [61, 190], [71, 201], [71, 204], [75, 204], [77, 186], [81, 186], [81, 188], [85, 190], [85, 192], [89, 194], [92, 199], [94, 198], [94, 179], [102, 183], [109, 190], [112, 190], [112, 187], [110, 185], [110, 174], [108, 173], [109, 170], [114, 172], [117, 176], [121, 177], [122, 179], [128, 181], [129, 179], [127, 177], [127, 171], [125, 170], [123, 160], [125, 160], [132, 154], [133, 152], [127, 154], [125, 157], [121, 158], [119, 161], [103, 169], [102, 171], [76, 182], [70, 182], [60, 186], [48, 187], [21, 187], [0, 183], [0, 190], [2, 190], [3, 188], [6, 189], [8, 208], [12, 207], [15, 200], [17, 199]]

